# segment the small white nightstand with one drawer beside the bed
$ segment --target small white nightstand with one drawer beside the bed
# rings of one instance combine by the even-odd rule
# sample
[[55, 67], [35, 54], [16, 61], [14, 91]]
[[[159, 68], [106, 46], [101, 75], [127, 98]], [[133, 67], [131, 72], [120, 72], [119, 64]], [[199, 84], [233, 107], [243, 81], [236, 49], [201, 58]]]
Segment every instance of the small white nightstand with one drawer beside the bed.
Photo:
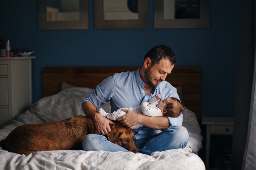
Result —
[[202, 124], [207, 125], [207, 131], [206, 131], [206, 169], [208, 169], [211, 135], [233, 135], [234, 118], [203, 116]]

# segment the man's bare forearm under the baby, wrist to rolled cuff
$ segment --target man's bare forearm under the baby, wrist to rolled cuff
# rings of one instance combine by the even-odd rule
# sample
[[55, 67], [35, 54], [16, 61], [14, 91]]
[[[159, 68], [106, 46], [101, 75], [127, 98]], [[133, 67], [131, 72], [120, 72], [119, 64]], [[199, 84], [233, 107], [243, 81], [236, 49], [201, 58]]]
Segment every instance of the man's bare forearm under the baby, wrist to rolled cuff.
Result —
[[170, 126], [169, 120], [166, 116], [151, 117], [143, 114], [138, 114], [138, 121], [144, 126], [158, 130], [164, 130], [165, 128]]

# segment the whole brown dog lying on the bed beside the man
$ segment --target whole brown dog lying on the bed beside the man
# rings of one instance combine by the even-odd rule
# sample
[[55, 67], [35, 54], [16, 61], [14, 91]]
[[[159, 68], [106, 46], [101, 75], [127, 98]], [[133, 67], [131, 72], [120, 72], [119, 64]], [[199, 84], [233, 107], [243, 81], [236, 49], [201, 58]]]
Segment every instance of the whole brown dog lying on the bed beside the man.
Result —
[[[108, 139], [134, 153], [139, 152], [133, 140], [131, 128], [120, 123], [110, 125]], [[17, 154], [28, 155], [36, 151], [82, 149], [83, 138], [87, 134], [98, 134], [93, 119], [75, 116], [65, 120], [43, 124], [25, 124], [16, 127], [0, 146]]]

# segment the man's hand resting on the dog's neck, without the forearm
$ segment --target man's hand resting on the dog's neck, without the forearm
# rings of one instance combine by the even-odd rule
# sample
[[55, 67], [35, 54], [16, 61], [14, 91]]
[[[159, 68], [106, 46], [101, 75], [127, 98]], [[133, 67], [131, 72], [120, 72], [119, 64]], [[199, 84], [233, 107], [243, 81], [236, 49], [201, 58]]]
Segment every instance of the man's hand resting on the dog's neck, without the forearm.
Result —
[[114, 124], [114, 122], [105, 118], [101, 114], [95, 114], [93, 120], [94, 120], [94, 123], [95, 123], [96, 130], [101, 135], [108, 134], [111, 131], [111, 129], [109, 127], [109, 124]]

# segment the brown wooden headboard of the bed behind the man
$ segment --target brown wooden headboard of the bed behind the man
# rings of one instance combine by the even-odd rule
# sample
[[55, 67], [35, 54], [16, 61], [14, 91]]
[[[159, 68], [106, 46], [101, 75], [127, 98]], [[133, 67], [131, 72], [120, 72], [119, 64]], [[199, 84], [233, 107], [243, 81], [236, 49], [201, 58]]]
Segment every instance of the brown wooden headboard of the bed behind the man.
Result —
[[[44, 67], [44, 96], [56, 94], [63, 82], [77, 87], [95, 88], [97, 84], [114, 73], [138, 70], [139, 67]], [[200, 122], [200, 78], [197, 66], [175, 66], [166, 81], [174, 87], [182, 87], [183, 104], [195, 112]]]

